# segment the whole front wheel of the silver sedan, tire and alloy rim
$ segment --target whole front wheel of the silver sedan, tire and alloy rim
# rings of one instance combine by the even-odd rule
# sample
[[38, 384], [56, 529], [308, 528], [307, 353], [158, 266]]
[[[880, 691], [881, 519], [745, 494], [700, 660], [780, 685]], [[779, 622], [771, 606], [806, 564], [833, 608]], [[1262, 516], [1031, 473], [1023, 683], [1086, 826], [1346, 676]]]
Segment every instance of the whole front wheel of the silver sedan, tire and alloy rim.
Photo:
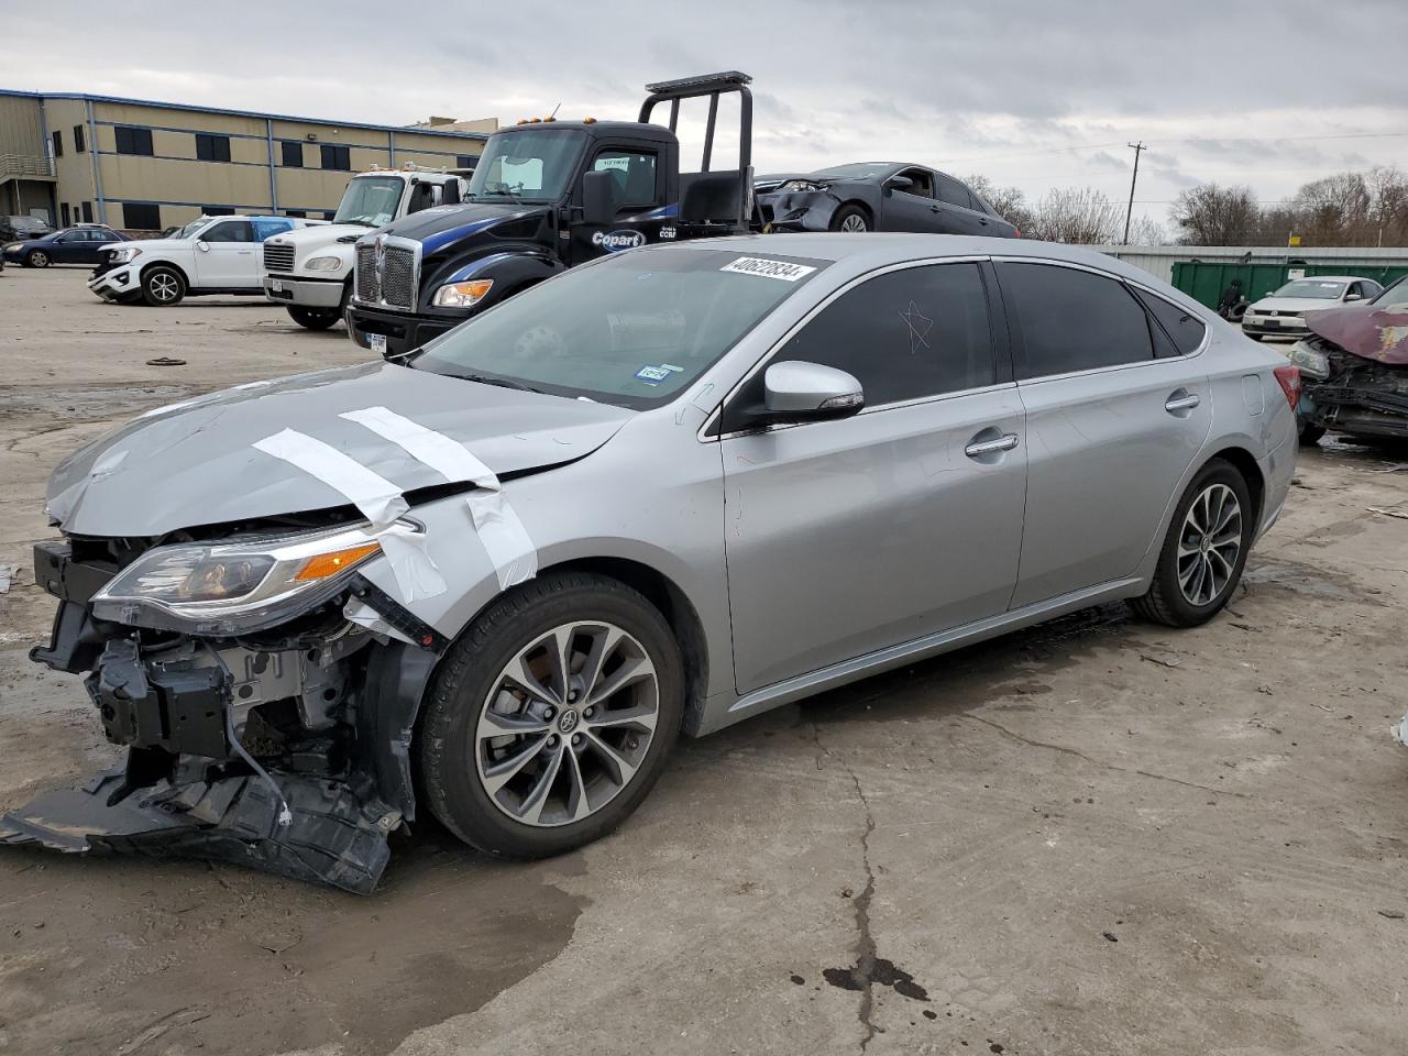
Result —
[[683, 714], [679, 646], [649, 601], [601, 576], [531, 580], [435, 677], [417, 738], [431, 811], [489, 855], [572, 850], [641, 804]]

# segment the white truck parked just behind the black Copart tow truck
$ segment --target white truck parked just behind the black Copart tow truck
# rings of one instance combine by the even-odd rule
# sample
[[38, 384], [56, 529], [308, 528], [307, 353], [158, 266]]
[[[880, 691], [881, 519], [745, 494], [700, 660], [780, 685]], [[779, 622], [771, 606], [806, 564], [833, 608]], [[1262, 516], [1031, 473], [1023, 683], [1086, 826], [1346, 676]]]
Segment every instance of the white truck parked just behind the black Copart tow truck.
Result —
[[453, 204], [467, 187], [458, 172], [377, 169], [353, 176], [331, 224], [265, 242], [265, 296], [300, 327], [327, 329], [346, 307], [356, 241], [410, 213]]

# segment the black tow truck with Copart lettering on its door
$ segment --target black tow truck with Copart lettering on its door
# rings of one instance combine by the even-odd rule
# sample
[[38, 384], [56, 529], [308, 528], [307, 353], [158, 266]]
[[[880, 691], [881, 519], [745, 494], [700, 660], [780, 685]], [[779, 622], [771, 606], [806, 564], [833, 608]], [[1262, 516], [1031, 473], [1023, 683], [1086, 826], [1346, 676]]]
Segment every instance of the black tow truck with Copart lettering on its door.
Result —
[[[753, 220], [752, 77], [646, 84], [638, 121], [520, 122], [494, 132], [465, 200], [356, 244], [348, 334], [396, 356], [505, 297], [605, 253], [746, 232]], [[719, 99], [739, 96], [738, 166], [711, 168]], [[680, 172], [680, 103], [708, 100], [698, 172]], [[669, 125], [650, 124], [669, 104]]]

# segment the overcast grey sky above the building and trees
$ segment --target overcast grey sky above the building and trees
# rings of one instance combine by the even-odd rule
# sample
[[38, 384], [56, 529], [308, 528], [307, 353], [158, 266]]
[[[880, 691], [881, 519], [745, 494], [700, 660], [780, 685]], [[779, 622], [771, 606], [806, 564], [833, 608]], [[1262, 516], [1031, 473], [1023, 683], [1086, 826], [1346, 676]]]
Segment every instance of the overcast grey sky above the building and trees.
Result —
[[10, 0], [0, 38], [0, 87], [387, 124], [634, 120], [648, 80], [741, 69], [759, 172], [914, 161], [1124, 203], [1143, 139], [1159, 221], [1205, 180], [1273, 201], [1408, 168], [1408, 0]]

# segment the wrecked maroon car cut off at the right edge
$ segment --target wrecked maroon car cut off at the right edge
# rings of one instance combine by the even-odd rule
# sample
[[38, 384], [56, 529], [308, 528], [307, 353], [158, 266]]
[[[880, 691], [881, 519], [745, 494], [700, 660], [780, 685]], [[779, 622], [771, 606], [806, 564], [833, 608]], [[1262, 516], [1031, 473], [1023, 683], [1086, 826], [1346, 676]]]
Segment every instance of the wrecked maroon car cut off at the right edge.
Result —
[[1309, 313], [1287, 353], [1304, 384], [1301, 442], [1326, 431], [1408, 439], [1408, 277], [1371, 301]]

